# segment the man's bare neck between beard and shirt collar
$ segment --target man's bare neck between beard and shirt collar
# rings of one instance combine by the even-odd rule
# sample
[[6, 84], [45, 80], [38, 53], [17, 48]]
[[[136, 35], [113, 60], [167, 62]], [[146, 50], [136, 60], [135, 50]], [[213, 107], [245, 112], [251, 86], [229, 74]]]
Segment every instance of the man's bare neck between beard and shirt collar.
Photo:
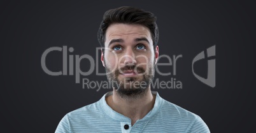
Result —
[[147, 90], [145, 95], [135, 99], [121, 98], [116, 91], [113, 91], [113, 95], [108, 96], [106, 102], [113, 110], [131, 118], [133, 125], [153, 108], [155, 96], [151, 93], [150, 88]]

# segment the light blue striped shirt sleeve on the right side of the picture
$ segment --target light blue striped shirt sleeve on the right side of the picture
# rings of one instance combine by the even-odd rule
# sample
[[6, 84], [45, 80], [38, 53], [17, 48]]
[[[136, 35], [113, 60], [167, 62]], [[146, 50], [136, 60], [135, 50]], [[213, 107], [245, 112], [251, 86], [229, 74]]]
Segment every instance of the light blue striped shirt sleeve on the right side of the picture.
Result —
[[201, 117], [197, 116], [194, 124], [192, 125], [191, 129], [190, 129], [191, 133], [196, 133], [196, 132], [210, 132], [210, 129], [208, 128], [208, 126], [204, 123], [204, 121], [202, 120]]

